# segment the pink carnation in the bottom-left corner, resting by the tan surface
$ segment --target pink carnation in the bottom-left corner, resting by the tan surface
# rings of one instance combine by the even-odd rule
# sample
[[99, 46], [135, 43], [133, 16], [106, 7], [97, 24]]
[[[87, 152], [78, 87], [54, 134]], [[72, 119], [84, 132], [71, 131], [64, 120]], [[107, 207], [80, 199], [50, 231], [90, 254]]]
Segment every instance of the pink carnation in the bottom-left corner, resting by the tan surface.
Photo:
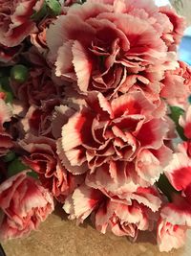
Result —
[[0, 185], [0, 208], [0, 238], [19, 238], [38, 228], [53, 212], [53, 198], [38, 181], [23, 172]]

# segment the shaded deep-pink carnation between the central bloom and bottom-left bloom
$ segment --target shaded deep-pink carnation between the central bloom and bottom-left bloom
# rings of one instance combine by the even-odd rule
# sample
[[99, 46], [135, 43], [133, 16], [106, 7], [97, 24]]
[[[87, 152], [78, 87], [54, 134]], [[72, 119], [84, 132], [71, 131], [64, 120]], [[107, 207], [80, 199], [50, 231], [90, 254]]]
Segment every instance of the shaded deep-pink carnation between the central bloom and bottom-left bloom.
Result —
[[20, 142], [20, 146], [29, 153], [23, 156], [23, 162], [39, 175], [42, 185], [57, 200], [64, 201], [83, 181], [82, 175], [74, 176], [62, 166], [53, 139], [31, 134]]

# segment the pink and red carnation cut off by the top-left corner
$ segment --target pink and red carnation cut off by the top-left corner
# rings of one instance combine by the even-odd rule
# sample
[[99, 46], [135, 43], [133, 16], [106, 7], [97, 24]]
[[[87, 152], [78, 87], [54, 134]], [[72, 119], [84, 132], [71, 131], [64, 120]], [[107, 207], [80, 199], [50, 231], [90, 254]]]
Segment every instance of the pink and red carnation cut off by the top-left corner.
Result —
[[33, 12], [38, 12], [44, 0], [0, 0], [0, 43], [16, 46], [35, 30]]

